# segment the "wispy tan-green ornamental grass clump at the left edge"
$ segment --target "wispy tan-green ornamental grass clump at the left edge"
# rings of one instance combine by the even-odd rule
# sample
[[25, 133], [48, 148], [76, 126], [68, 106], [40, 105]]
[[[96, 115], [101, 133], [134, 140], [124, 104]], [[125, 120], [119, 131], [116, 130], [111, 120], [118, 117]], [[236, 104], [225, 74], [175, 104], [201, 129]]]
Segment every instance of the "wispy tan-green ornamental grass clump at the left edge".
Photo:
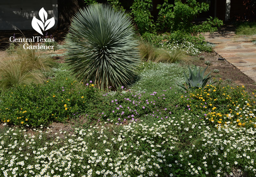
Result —
[[0, 61], [0, 90], [19, 85], [43, 83], [46, 71], [56, 65], [53, 59], [36, 49], [24, 49], [21, 43], [14, 46], [12, 53]]

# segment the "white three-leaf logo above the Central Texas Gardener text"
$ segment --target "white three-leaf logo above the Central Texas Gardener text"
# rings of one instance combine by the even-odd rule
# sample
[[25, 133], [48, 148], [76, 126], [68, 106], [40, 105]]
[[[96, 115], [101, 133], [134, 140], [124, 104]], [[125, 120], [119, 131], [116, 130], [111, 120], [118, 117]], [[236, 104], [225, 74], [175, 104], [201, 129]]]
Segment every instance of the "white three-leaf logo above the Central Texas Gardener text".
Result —
[[42, 21], [40, 21], [36, 17], [33, 17], [32, 22], [31, 22], [31, 25], [34, 28], [34, 30], [36, 30], [41, 35], [43, 35], [41, 29], [43, 31], [46, 31], [47, 29], [50, 29], [51, 27], [53, 27], [55, 24], [54, 18], [52, 17], [51, 19], [47, 20], [47, 16], [48, 16], [47, 12], [44, 10], [44, 7], [43, 7], [39, 11], [39, 17]]

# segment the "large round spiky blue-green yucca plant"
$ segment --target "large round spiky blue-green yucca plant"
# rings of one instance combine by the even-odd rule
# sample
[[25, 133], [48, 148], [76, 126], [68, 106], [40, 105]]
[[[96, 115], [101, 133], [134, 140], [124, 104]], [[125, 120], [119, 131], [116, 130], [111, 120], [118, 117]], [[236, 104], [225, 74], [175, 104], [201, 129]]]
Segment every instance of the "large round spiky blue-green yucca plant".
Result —
[[79, 10], [66, 36], [66, 61], [81, 82], [100, 89], [132, 82], [140, 55], [132, 19], [107, 4]]

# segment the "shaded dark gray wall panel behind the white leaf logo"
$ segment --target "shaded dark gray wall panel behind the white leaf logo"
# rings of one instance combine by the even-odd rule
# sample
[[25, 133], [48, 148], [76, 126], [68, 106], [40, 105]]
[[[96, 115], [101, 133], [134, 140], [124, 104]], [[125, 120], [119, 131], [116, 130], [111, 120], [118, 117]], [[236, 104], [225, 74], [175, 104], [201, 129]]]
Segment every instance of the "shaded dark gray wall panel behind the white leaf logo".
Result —
[[31, 22], [38, 16], [39, 10], [44, 7], [48, 18], [54, 17], [55, 25], [58, 24], [58, 1], [57, 0], [1, 0], [0, 1], [0, 30], [33, 29]]

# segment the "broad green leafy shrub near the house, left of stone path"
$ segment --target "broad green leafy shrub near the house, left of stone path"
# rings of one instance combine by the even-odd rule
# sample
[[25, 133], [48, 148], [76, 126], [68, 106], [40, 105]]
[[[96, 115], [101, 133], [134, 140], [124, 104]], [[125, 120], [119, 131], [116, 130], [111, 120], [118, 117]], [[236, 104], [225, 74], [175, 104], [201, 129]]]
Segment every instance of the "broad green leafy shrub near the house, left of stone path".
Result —
[[159, 4], [157, 9], [159, 9], [157, 26], [161, 30], [182, 31], [182, 33], [196, 35], [198, 33], [214, 32], [217, 27], [223, 25], [221, 20], [212, 17], [201, 25], [191, 23], [199, 13], [209, 10], [208, 4], [198, 3], [196, 0], [187, 0], [185, 4], [176, 0], [174, 5], [169, 4], [168, 0], [164, 0], [164, 4]]

